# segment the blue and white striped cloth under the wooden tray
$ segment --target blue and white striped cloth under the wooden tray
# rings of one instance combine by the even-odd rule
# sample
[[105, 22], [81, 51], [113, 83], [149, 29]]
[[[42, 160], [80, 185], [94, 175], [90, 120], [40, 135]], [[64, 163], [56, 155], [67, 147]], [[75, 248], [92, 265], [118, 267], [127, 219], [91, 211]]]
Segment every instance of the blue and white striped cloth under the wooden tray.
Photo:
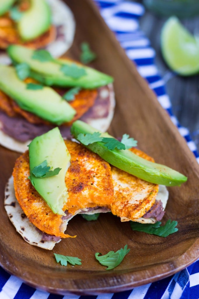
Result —
[[[172, 113], [164, 81], [154, 65], [155, 52], [149, 40], [139, 29], [139, 18], [144, 13], [141, 4], [123, 0], [94, 0], [109, 28], [116, 34], [127, 56], [135, 62], [157, 99], [169, 113], [180, 134], [186, 139], [199, 162], [194, 142], [189, 131], [180, 126]], [[8, 274], [0, 267], [0, 299], [199, 299], [199, 260], [186, 269], [160, 281], [139, 286], [129, 291], [98, 296], [53, 295], [27, 286], [19, 278]]]

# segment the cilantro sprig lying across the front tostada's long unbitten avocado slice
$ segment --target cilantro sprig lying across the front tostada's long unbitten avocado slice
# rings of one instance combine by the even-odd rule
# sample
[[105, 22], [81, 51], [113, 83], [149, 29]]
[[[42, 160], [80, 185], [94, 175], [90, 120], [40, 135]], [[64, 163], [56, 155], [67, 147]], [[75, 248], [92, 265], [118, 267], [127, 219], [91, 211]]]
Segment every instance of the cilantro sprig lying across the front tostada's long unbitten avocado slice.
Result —
[[122, 137], [122, 141], [115, 138], [108, 138], [108, 137], [101, 137], [100, 132], [94, 132], [93, 134], [87, 133], [82, 134], [80, 133], [77, 136], [77, 140], [79, 140], [84, 145], [89, 145], [94, 142], [103, 142], [104, 146], [110, 150], [117, 149], [129, 149], [131, 147], [137, 146], [137, 141], [134, 138], [129, 138], [128, 134], [124, 134]]

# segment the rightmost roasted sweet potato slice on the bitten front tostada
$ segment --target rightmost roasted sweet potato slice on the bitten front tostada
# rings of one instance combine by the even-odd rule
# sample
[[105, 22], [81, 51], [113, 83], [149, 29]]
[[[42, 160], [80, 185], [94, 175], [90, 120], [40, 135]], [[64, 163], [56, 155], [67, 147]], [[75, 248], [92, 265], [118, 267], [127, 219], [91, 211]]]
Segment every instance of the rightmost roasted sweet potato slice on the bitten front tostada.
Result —
[[[130, 149], [136, 155], [154, 162], [153, 158], [139, 149]], [[143, 216], [154, 205], [159, 185], [139, 179], [117, 167], [111, 166], [114, 186], [114, 201], [111, 212], [122, 221], [135, 220]]]

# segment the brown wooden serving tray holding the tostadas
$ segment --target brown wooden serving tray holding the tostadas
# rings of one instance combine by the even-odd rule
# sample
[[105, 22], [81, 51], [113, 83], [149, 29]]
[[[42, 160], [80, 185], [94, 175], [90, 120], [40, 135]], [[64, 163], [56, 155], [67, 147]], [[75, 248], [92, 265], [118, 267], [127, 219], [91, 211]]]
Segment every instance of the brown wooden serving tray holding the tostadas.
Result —
[[[1, 227], [0, 264], [9, 273], [39, 289], [56, 293], [96, 295], [119, 292], [167, 277], [197, 260], [199, 166], [167, 113], [158, 103], [136, 67], [125, 56], [114, 35], [89, 0], [68, 0], [76, 19], [75, 41], [68, 55], [79, 57], [79, 45], [90, 43], [97, 53], [93, 66], [112, 75], [117, 106], [109, 132], [115, 137], [128, 133], [140, 149], [188, 176], [180, 187], [169, 188], [169, 201], [163, 218], [177, 220], [179, 231], [166, 238], [132, 231], [128, 222], [103, 214], [87, 222], [76, 216], [69, 222], [68, 234], [52, 251], [26, 243], [10, 223], [3, 207], [4, 186], [19, 154], [0, 147]], [[172, 145], [172, 146], [171, 146]], [[128, 244], [130, 252], [115, 269], [106, 271], [94, 257]], [[57, 264], [53, 253], [76, 256], [82, 265]]]

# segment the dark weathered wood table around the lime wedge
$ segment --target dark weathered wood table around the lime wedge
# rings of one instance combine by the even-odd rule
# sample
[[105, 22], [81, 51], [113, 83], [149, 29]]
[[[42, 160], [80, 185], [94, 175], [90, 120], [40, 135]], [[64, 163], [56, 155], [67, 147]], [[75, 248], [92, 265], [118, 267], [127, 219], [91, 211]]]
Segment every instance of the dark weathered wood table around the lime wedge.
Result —
[[[165, 64], [160, 50], [160, 33], [166, 19], [146, 10], [140, 19], [140, 27], [156, 51], [155, 63], [160, 76], [165, 79], [173, 114], [182, 126], [189, 129], [190, 136], [195, 141], [199, 152], [199, 75], [180, 77], [173, 74]], [[180, 21], [191, 33], [198, 32], [199, 34], [199, 16]]]

